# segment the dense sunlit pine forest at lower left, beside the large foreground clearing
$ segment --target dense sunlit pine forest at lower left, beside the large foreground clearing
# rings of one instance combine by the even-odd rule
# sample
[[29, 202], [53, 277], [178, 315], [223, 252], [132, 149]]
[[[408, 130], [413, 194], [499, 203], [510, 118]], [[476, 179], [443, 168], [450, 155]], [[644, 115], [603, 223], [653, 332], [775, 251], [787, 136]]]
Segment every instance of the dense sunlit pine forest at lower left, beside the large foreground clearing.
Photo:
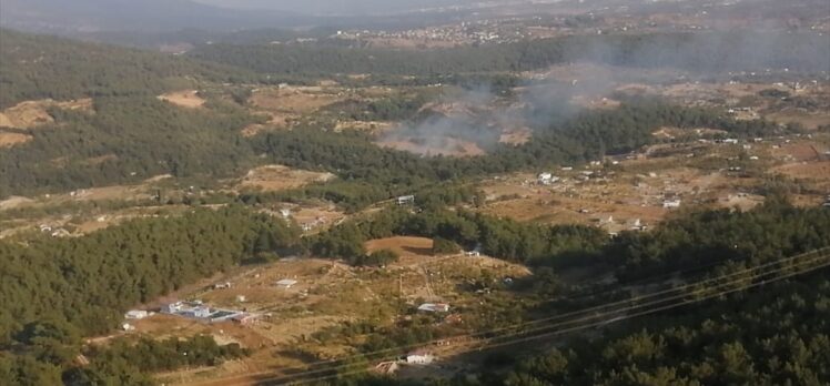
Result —
[[[226, 270], [261, 250], [263, 228], [293, 247], [298, 231], [240, 207], [135, 220], [79, 238], [0, 242], [0, 342], [55, 318], [85, 335], [113, 328], [125, 308]], [[262, 251], [257, 251], [262, 252]]]

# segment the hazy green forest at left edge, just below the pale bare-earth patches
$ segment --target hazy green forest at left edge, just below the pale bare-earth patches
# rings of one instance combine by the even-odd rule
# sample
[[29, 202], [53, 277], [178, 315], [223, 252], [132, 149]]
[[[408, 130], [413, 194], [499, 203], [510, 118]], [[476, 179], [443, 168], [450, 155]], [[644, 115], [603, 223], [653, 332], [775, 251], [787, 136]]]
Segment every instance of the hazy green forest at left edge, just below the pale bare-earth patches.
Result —
[[151, 96], [98, 98], [94, 113], [54, 109], [33, 140], [0, 151], [0, 196], [65, 191], [171, 173], [239, 174], [253, 154], [241, 109], [182, 110]]

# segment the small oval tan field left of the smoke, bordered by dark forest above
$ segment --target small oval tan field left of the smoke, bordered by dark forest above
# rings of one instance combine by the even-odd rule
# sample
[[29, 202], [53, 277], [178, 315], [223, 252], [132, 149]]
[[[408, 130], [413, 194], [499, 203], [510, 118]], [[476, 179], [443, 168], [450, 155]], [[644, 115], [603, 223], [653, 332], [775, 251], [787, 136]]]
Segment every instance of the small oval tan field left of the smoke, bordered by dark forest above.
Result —
[[237, 190], [254, 189], [274, 192], [332, 179], [334, 179], [332, 173], [310, 172], [283, 165], [264, 165], [249, 171], [239, 182]]

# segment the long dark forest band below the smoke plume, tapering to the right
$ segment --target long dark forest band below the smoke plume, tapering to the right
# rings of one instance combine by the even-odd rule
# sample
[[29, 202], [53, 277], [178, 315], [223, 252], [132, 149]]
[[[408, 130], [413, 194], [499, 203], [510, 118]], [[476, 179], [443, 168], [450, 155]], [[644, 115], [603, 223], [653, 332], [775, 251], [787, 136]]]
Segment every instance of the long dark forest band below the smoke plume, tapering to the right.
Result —
[[[556, 111], [557, 109], [551, 109]], [[519, 146], [500, 144], [480, 156], [422, 158], [378, 148], [365, 133], [331, 133], [314, 128], [270, 132], [255, 136], [251, 145], [273, 163], [323, 170], [338, 181], [310, 185], [290, 193], [252, 193], [246, 202], [320, 197], [348, 211], [371, 203], [428, 190], [436, 182], [451, 183], [495, 173], [535, 170], [551, 165], [581, 164], [605, 155], [622, 154], [655, 141], [660, 126], [717, 128], [738, 138], [787, 132], [762, 121], [736, 121], [708, 109], [689, 109], [654, 100], [631, 100], [616, 110], [586, 111], [546, 116], [535, 128], [534, 141]]]

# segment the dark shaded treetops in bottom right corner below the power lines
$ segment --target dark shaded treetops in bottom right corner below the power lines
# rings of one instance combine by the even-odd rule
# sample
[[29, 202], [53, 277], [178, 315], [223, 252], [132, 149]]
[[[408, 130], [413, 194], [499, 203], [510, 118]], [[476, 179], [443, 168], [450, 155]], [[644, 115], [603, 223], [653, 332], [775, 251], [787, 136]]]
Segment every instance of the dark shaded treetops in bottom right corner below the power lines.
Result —
[[824, 271], [434, 385], [824, 385], [828, 304]]

